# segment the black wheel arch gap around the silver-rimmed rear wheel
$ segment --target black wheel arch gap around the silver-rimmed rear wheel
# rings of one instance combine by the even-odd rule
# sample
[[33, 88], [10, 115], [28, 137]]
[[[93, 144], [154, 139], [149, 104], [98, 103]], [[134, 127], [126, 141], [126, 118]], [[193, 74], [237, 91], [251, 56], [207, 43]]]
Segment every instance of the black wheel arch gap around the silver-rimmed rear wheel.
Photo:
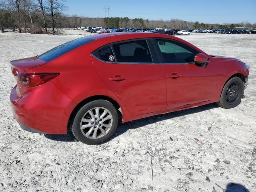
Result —
[[78, 110], [84, 106], [86, 103], [88, 102], [91, 102], [91, 101], [94, 101], [94, 100], [107, 100], [109, 101], [110, 103], [112, 103], [114, 105], [114, 107], [116, 108], [117, 112], [118, 112], [118, 119], [119, 121], [123, 119], [123, 111], [122, 111], [122, 108], [120, 106], [120, 104], [118, 104], [118, 102], [116, 100], [114, 100], [113, 98], [110, 98], [109, 96], [105, 96], [105, 95], [94, 95], [94, 96], [90, 96], [84, 100], [82, 100], [80, 103], [78, 103], [76, 105], [76, 107], [72, 110], [71, 114], [70, 114], [70, 117], [68, 119], [68, 127], [71, 126], [73, 120], [74, 120], [74, 117], [76, 115], [76, 113], [78, 112]]

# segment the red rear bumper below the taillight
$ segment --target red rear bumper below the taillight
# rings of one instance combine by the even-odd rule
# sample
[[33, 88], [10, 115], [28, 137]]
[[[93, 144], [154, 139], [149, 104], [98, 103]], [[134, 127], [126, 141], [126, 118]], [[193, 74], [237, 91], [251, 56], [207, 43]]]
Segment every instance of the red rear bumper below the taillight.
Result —
[[14, 118], [29, 132], [66, 134], [69, 116], [76, 106], [52, 82], [38, 86], [18, 98], [16, 87], [10, 93]]

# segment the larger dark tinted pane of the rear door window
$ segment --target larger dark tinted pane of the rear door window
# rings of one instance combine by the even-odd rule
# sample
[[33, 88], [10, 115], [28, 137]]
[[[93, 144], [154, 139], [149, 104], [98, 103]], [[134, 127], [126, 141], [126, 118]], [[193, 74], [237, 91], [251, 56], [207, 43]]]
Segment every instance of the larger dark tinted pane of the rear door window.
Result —
[[146, 40], [123, 42], [112, 46], [117, 62], [152, 63]]

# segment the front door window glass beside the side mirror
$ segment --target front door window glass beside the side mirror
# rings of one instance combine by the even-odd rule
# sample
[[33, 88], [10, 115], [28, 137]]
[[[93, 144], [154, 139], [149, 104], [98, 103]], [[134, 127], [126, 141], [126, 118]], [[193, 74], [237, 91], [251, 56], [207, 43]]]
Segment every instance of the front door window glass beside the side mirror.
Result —
[[156, 40], [157, 47], [165, 63], [194, 62], [197, 52], [188, 46], [170, 40]]

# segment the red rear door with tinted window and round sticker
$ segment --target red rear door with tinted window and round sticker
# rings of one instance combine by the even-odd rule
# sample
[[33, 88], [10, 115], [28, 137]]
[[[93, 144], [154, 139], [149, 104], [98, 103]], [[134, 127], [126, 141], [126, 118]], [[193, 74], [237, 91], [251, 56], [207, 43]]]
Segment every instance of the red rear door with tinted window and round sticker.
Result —
[[106, 85], [122, 100], [131, 115], [166, 108], [166, 79], [154, 64], [145, 39], [104, 46], [92, 53], [92, 63]]

